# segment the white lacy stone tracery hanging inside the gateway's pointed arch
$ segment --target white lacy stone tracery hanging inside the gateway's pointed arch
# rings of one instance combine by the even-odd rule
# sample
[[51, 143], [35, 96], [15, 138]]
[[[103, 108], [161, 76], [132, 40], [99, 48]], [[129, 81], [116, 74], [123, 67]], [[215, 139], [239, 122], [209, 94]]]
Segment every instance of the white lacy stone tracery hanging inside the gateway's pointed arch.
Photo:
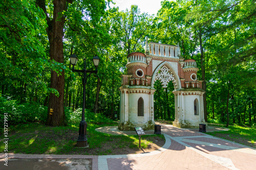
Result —
[[169, 71], [169, 69], [165, 65], [162, 66], [159, 71], [160, 72], [157, 73], [155, 81], [159, 80], [162, 83], [163, 88], [166, 88], [168, 83], [170, 81], [173, 81], [174, 87], [177, 88], [177, 83], [175, 81], [175, 77], [172, 74], [172, 71]]

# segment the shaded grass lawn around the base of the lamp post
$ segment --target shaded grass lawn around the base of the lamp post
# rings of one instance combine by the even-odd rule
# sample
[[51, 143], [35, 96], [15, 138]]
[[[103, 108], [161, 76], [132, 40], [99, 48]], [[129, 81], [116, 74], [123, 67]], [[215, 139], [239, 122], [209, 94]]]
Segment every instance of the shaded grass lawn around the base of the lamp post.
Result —
[[[78, 124], [79, 126], [79, 124]], [[111, 125], [88, 123], [87, 137], [89, 148], [76, 148], [78, 126], [50, 127], [38, 123], [18, 125], [9, 128], [8, 153], [23, 154], [78, 154], [78, 155], [116, 155], [141, 153], [138, 136], [110, 135], [95, 131], [96, 128]], [[1, 135], [0, 151], [5, 145]], [[141, 147], [157, 150], [164, 144], [163, 135], [144, 135]], [[154, 148], [155, 147], [155, 148]], [[158, 147], [158, 148], [157, 148]]]

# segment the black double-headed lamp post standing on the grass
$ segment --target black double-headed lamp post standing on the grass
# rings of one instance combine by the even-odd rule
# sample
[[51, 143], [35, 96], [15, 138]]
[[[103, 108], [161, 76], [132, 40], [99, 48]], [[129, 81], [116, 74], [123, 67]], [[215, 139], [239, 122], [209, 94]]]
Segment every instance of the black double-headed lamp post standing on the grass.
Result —
[[[82, 76], [82, 84], [83, 84], [83, 96], [82, 96], [82, 119], [81, 122], [79, 124], [79, 136], [76, 142], [76, 146], [78, 148], [84, 148], [87, 147], [87, 137], [86, 137], [86, 131], [87, 131], [87, 123], [86, 120], [84, 120], [84, 108], [86, 106], [86, 83], [87, 83], [87, 78], [88, 76], [90, 76], [92, 73], [96, 73], [98, 72], [98, 65], [99, 65], [99, 57], [95, 56], [93, 57], [93, 63], [94, 66], [96, 67], [95, 70], [87, 70], [86, 69], [86, 59], [84, 59], [84, 68], [82, 70], [79, 69], [75, 69], [75, 65], [78, 62], [78, 58], [76, 57], [75, 54], [72, 54], [70, 56], [70, 62], [73, 65], [72, 71], [73, 72], [82, 72], [83, 76]], [[87, 76], [87, 72], [90, 73], [90, 75]]]

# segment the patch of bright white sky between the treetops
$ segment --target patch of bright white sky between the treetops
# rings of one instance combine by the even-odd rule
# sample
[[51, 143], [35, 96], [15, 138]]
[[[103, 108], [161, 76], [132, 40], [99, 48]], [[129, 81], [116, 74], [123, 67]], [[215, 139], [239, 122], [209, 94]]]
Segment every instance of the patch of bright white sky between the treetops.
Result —
[[161, 8], [161, 1], [163, 0], [113, 0], [116, 3], [113, 6], [119, 7], [119, 11], [124, 11], [126, 8], [130, 10], [131, 5], [138, 5], [141, 13], [146, 12], [156, 16], [157, 11]]

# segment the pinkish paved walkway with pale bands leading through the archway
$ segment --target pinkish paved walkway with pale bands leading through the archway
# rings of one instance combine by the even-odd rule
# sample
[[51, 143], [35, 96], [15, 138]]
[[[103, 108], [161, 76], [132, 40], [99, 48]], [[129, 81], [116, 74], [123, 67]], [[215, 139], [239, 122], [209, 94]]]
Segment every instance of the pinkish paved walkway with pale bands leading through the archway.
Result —
[[[210, 129], [218, 130], [208, 126], [207, 131]], [[101, 128], [98, 131], [109, 131], [116, 135], [120, 133], [114, 127], [103, 130]], [[44, 162], [44, 159], [54, 160], [52, 163], [55, 165], [50, 166], [49, 162], [40, 166], [38, 161], [34, 161], [31, 165], [33, 168], [22, 168], [23, 166], [16, 163], [18, 169], [256, 169], [256, 150], [244, 145], [216, 138], [195, 129], [179, 129], [171, 125], [162, 125], [161, 133], [165, 136], [165, 144], [159, 150], [150, 153], [105, 156], [9, 154], [11, 159], [8, 164], [11, 165], [12, 159], [18, 161], [21, 159], [16, 158], [22, 158], [39, 159], [41, 162]], [[3, 169], [4, 155], [0, 154], [0, 157], [0, 169]]]

